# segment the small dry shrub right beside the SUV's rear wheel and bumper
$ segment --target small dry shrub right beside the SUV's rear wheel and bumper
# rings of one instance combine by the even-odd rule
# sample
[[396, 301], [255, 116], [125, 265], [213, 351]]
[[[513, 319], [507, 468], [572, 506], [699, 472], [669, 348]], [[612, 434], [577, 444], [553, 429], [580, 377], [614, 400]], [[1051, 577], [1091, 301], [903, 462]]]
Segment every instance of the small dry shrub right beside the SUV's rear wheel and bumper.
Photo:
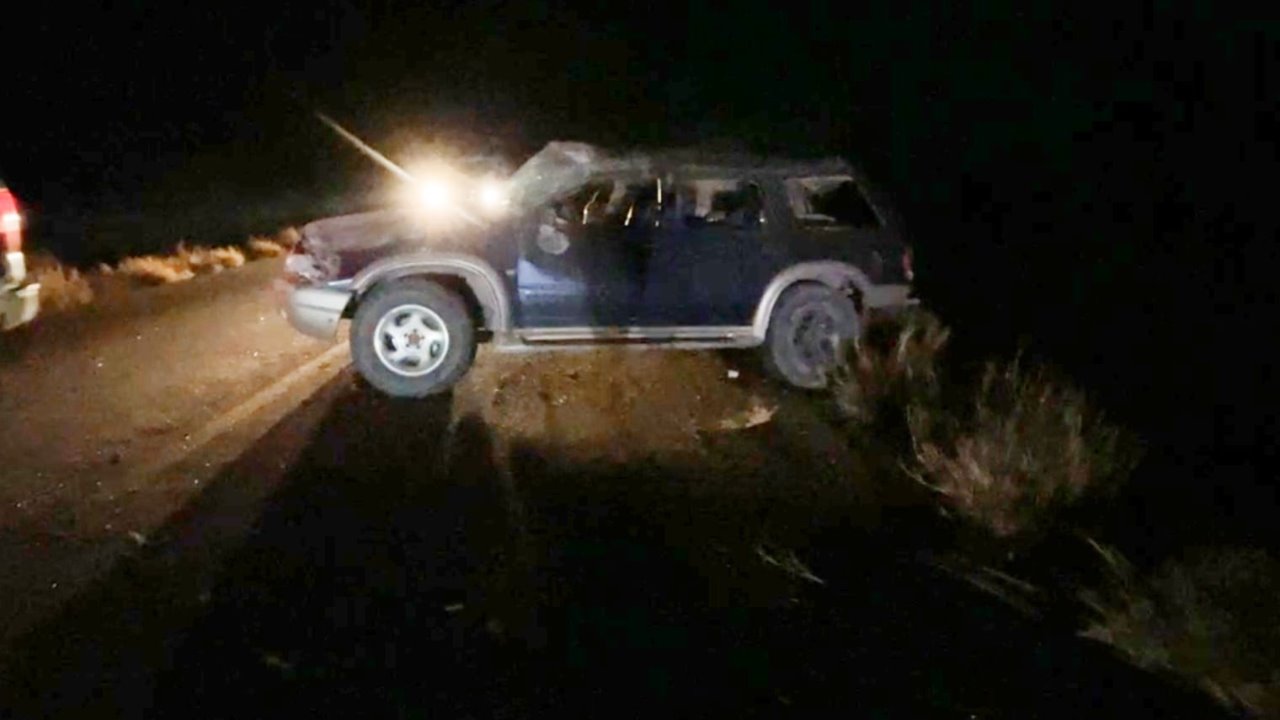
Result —
[[858, 425], [883, 425], [910, 406], [938, 402], [941, 354], [951, 337], [933, 314], [913, 309], [899, 323], [869, 328], [846, 347], [835, 377], [841, 413]]

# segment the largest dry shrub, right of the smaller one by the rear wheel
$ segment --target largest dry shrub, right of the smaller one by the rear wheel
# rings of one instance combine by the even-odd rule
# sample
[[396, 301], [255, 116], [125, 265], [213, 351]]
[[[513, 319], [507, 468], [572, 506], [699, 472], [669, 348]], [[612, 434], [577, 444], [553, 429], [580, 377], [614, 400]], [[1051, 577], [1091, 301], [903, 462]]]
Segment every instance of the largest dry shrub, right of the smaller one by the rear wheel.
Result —
[[998, 538], [1042, 529], [1087, 492], [1108, 489], [1137, 446], [1084, 396], [1019, 361], [988, 364], [972, 405], [908, 409], [910, 473], [959, 516]]

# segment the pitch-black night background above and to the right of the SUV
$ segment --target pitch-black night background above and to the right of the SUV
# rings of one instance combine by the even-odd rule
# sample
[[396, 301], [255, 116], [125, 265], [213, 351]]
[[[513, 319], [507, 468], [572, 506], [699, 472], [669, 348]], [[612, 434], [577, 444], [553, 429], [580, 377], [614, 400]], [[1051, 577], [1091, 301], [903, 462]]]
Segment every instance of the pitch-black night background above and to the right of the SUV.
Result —
[[595, 5], [24, 4], [0, 169], [32, 246], [92, 263], [362, 202], [380, 170], [315, 109], [517, 160], [553, 138], [844, 154], [901, 205], [961, 354], [1024, 346], [1148, 438], [1121, 521], [1270, 539], [1274, 17]]

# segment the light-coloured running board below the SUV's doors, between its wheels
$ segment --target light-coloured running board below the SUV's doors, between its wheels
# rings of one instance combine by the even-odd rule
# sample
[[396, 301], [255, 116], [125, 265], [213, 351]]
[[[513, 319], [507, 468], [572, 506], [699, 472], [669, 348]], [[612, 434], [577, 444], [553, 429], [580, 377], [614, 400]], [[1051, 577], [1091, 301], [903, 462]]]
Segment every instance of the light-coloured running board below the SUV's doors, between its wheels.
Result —
[[717, 347], [753, 347], [760, 340], [750, 325], [672, 325], [644, 328], [518, 328], [499, 342], [503, 350], [598, 347], [602, 345], [639, 345], [677, 350]]

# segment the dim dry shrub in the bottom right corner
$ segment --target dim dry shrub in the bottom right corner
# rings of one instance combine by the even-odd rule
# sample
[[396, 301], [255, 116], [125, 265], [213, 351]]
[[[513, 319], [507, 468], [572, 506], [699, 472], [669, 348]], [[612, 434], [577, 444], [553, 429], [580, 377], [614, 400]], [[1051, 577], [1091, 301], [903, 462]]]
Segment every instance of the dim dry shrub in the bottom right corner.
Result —
[[1083, 593], [1094, 614], [1085, 637], [1226, 705], [1280, 717], [1280, 562], [1260, 550], [1201, 550], [1140, 577], [1116, 551], [1094, 547], [1107, 587]]

